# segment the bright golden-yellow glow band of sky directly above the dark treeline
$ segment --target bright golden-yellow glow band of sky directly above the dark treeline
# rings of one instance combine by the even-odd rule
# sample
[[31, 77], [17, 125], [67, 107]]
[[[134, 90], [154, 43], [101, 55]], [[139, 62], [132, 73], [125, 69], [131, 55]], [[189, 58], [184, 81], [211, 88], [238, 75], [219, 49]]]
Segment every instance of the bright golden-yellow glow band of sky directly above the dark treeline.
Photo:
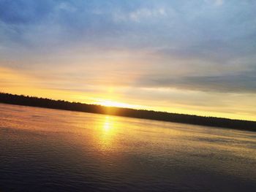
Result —
[[[184, 92], [187, 93], [186, 90], [175, 89], [170, 93], [169, 89], [154, 90], [154, 88], [152, 88], [149, 90], [150, 92], [148, 92], [148, 94], [145, 94], [145, 99], [144, 96], [129, 98], [129, 95], [126, 95], [126, 88], [115, 85], [95, 85], [95, 91], [89, 92], [50, 88], [46, 86], [47, 83], [44, 84], [45, 82], [43, 83], [38, 77], [33, 76], [31, 73], [18, 71], [17, 69], [0, 67], [0, 77], [0, 91], [4, 93], [78, 101], [87, 104], [100, 104], [106, 107], [124, 107], [220, 118], [256, 120], [255, 104], [253, 102], [254, 95], [246, 93], [241, 96], [238, 94], [238, 96], [236, 96], [236, 94], [225, 95], [225, 93], [212, 93], [214, 97], [208, 97], [208, 103], [204, 105], [200, 104], [202, 93], [196, 91], [193, 95], [190, 95], [190, 93], [187, 94], [190, 96], [190, 98], [188, 98], [181, 97]], [[127, 89], [134, 91], [134, 96], [136, 96], [138, 88], [132, 90], [132, 87], [127, 87]], [[148, 90], [140, 89], [139, 91], [143, 92]], [[169, 93], [170, 99], [166, 101], [158, 97]], [[204, 94], [205, 96], [209, 95], [208, 93]], [[230, 96], [233, 97], [231, 98]], [[187, 102], [190, 99], [194, 100]]]

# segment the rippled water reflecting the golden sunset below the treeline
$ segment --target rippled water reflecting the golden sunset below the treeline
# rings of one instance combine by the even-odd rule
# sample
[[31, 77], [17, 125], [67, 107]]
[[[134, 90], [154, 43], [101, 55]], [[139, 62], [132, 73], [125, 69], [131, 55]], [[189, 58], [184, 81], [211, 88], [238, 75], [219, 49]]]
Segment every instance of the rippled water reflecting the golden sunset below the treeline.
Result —
[[0, 191], [256, 191], [256, 133], [0, 104]]

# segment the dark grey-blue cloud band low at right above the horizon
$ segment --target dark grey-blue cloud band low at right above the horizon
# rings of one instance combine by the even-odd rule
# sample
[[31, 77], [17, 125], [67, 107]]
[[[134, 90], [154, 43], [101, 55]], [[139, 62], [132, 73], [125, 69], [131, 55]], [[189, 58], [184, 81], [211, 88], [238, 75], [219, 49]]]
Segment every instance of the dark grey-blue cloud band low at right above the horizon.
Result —
[[256, 71], [209, 76], [167, 77], [165, 74], [146, 75], [138, 85], [148, 88], [177, 88], [190, 91], [219, 93], [256, 93]]

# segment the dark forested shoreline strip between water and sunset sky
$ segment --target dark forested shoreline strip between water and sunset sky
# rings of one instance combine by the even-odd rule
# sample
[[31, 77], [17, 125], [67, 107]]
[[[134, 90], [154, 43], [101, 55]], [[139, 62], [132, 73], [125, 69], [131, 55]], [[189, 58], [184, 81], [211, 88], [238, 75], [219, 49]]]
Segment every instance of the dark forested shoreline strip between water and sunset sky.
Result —
[[197, 115], [184, 115], [170, 112], [134, 110], [121, 107], [104, 107], [97, 104], [81, 104], [78, 102], [44, 99], [34, 96], [20, 96], [10, 93], [0, 93], [0, 102], [5, 104], [18, 104], [31, 107], [44, 107], [59, 110], [91, 112], [106, 115], [118, 115], [129, 118], [163, 120], [175, 123], [187, 123], [201, 126], [215, 126], [222, 128], [236, 128], [242, 130], [256, 131], [256, 121], [249, 120], [231, 120], [227, 118], [202, 117]]

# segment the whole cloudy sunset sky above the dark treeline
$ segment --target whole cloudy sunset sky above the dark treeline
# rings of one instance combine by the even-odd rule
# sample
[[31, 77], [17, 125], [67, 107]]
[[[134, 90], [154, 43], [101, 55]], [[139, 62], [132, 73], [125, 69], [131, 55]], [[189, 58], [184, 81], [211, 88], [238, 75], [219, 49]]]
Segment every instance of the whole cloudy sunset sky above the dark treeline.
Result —
[[256, 120], [256, 1], [0, 0], [0, 91]]

